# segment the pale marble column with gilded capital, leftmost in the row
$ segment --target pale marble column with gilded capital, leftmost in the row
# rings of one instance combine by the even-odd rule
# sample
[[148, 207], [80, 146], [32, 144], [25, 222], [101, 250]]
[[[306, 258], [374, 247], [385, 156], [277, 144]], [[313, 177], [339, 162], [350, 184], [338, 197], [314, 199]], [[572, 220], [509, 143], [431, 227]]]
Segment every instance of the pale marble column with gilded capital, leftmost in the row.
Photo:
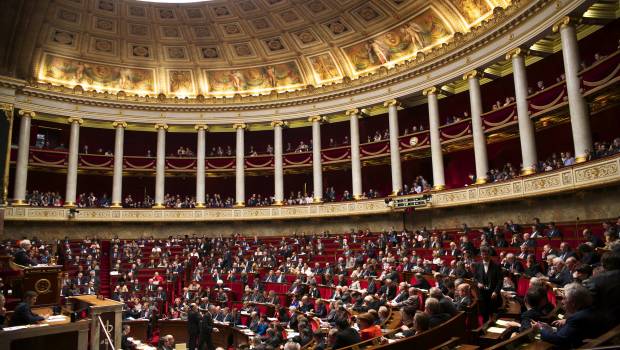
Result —
[[26, 184], [28, 178], [28, 158], [30, 154], [30, 126], [35, 112], [20, 110], [19, 116], [19, 145], [17, 149], [17, 163], [15, 165], [15, 188], [13, 205], [28, 205], [26, 203]]

